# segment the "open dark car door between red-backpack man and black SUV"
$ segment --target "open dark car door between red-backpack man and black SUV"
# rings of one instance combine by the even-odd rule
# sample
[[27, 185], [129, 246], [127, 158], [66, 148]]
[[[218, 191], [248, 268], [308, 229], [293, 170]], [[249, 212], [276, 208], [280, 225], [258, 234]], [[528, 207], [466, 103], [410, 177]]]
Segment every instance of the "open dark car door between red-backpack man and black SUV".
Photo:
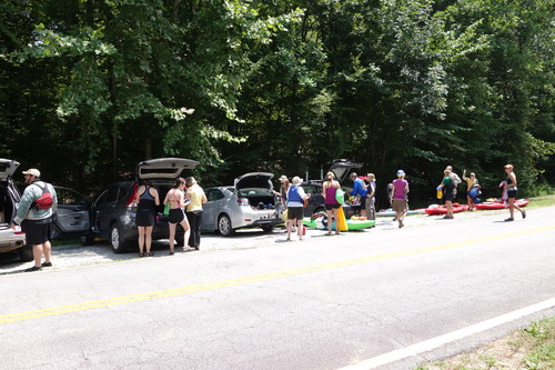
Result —
[[90, 228], [90, 201], [70, 188], [56, 187], [58, 212], [56, 227], [61, 233], [85, 233]]

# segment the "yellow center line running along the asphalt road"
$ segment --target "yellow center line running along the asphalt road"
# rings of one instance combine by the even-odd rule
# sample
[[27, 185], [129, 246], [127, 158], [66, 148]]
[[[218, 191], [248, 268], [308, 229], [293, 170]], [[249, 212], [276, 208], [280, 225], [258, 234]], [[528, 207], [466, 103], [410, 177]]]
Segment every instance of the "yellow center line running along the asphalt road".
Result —
[[403, 250], [403, 251], [398, 251], [398, 252], [383, 253], [383, 254], [370, 256], [370, 257], [364, 257], [364, 258], [310, 266], [310, 267], [304, 267], [304, 268], [299, 268], [299, 269], [293, 269], [293, 270], [262, 273], [262, 274], [255, 274], [255, 276], [251, 276], [251, 277], [221, 280], [221, 281], [214, 281], [214, 282], [208, 282], [208, 283], [201, 283], [201, 284], [194, 284], [194, 286], [186, 286], [186, 287], [173, 288], [173, 289], [167, 289], [167, 290], [159, 290], [159, 291], [152, 291], [152, 292], [145, 292], [145, 293], [139, 293], [139, 294], [132, 294], [132, 296], [123, 296], [123, 297], [117, 297], [117, 298], [110, 298], [110, 299], [102, 299], [102, 300], [82, 302], [82, 303], [75, 303], [75, 304], [69, 304], [69, 306], [51, 307], [51, 308], [46, 308], [46, 309], [36, 310], [36, 311], [3, 314], [3, 316], [0, 316], [0, 323], [8, 323], [8, 322], [14, 322], [14, 321], [26, 321], [26, 320], [32, 320], [32, 319], [38, 319], [38, 318], [43, 318], [43, 317], [49, 317], [49, 316], [57, 316], [57, 314], [63, 314], [63, 313], [69, 313], [69, 312], [75, 312], [75, 311], [85, 311], [85, 310], [91, 310], [91, 309], [95, 309], [95, 308], [103, 308], [103, 307], [110, 307], [110, 306], [117, 306], [117, 304], [123, 304], [123, 303], [154, 300], [154, 299], [160, 299], [160, 298], [165, 298], [165, 297], [184, 296], [184, 294], [190, 294], [190, 293], [195, 293], [195, 292], [201, 292], [201, 291], [210, 291], [210, 290], [216, 290], [216, 289], [222, 289], [222, 288], [243, 286], [243, 284], [258, 282], [258, 281], [268, 281], [268, 280], [274, 280], [274, 279], [280, 279], [280, 278], [311, 273], [311, 272], [325, 271], [325, 270], [332, 270], [332, 269], [337, 269], [337, 268], [343, 268], [343, 267], [363, 264], [363, 263], [369, 263], [369, 262], [374, 262], [374, 261], [389, 260], [389, 259], [394, 259], [394, 258], [400, 258], [400, 257], [405, 257], [405, 256], [426, 253], [426, 252], [444, 250], [444, 249], [450, 249], [450, 248], [455, 248], [455, 247], [475, 246], [476, 243], [484, 243], [487, 241], [495, 241], [495, 240], [503, 240], [503, 239], [508, 239], [508, 238], [514, 238], [514, 237], [522, 237], [522, 236], [527, 236], [527, 234], [533, 234], [533, 233], [538, 233], [538, 232], [544, 232], [544, 231], [549, 231], [549, 230], [555, 230], [555, 226], [546, 226], [546, 227], [536, 228], [536, 229], [514, 231], [514, 232], [507, 232], [507, 233], [503, 233], [503, 234], [494, 234], [494, 236], [490, 236], [490, 237], [474, 238], [474, 239], [467, 239], [467, 240], [461, 240], [461, 241], [453, 241], [453, 242], [435, 244], [435, 246], [430, 246], [430, 247], [422, 247], [422, 248], [415, 248], [415, 249], [410, 249], [410, 250]]

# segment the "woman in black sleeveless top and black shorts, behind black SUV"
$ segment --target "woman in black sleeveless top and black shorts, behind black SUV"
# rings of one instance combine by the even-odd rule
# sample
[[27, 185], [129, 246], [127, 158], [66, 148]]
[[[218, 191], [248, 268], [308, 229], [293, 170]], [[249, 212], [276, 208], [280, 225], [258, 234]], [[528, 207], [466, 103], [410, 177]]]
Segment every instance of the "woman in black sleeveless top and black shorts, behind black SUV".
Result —
[[[154, 228], [155, 207], [160, 204], [158, 190], [151, 187], [149, 180], [143, 180], [142, 186], [137, 191], [137, 217], [135, 224], [139, 229], [139, 257], [154, 256], [150, 251], [152, 246], [152, 229]], [[143, 248], [147, 247], [147, 253]]]

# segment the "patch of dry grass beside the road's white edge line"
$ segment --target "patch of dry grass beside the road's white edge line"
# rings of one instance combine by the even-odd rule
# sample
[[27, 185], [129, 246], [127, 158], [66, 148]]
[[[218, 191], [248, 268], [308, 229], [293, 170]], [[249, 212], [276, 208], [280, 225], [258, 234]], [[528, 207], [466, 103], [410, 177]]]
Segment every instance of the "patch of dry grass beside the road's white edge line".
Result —
[[473, 352], [421, 364], [416, 370], [555, 369], [555, 317], [535, 321]]

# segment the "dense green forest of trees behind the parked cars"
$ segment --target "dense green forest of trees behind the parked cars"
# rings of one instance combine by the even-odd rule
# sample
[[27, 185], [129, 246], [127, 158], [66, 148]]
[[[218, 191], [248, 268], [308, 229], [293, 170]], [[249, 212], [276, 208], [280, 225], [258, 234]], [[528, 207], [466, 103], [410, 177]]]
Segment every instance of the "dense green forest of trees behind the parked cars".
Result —
[[320, 177], [336, 158], [413, 197], [443, 169], [524, 194], [555, 173], [552, 0], [2, 0], [0, 158], [90, 193], [140, 160]]

